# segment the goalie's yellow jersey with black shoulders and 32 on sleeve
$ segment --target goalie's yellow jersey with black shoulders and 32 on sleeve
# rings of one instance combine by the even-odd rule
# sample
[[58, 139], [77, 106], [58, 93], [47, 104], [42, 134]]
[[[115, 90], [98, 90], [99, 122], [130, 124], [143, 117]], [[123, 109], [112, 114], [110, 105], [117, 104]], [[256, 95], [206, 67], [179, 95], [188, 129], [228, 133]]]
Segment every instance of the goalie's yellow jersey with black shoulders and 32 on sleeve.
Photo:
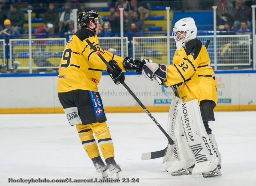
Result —
[[211, 60], [198, 39], [188, 41], [176, 50], [172, 65], [167, 67], [165, 85], [176, 85], [183, 102], [197, 99], [218, 101], [217, 82], [210, 66]]

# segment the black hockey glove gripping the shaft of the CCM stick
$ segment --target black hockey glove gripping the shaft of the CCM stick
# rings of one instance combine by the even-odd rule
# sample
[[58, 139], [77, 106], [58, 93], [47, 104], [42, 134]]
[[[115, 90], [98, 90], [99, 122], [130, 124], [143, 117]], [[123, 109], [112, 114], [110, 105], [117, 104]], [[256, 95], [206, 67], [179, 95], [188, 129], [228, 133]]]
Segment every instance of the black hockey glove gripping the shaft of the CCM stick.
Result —
[[113, 79], [114, 83], [118, 85], [119, 83], [124, 83], [124, 72], [122, 69], [118, 66], [115, 60], [110, 60], [108, 64], [112, 67], [114, 70], [113, 72], [110, 71], [109, 68], [106, 69], [110, 77]]

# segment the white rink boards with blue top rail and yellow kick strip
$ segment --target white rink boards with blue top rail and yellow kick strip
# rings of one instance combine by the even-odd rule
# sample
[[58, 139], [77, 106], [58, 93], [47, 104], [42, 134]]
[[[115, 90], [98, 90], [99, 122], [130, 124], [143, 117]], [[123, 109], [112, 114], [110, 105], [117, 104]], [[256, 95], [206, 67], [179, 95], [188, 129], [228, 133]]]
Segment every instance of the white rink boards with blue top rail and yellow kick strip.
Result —
[[[57, 75], [0, 75], [0, 114], [63, 113]], [[217, 71], [215, 79], [215, 111], [256, 110], [256, 71]], [[125, 83], [150, 112], [168, 112], [173, 97], [171, 87], [159, 86], [136, 73], [126, 73]], [[107, 73], [103, 73], [98, 87], [106, 112], [144, 112], [124, 86], [114, 84]]]

